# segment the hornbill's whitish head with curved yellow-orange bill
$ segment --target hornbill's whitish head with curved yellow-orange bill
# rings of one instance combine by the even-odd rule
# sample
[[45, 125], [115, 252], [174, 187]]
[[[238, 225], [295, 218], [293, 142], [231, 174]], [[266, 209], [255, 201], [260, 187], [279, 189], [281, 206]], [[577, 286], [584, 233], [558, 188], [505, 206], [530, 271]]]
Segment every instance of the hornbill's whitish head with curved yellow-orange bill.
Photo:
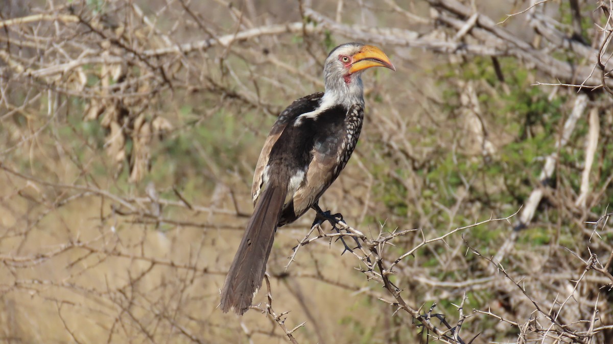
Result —
[[333, 103], [363, 103], [364, 87], [360, 75], [370, 67], [396, 70], [386, 54], [373, 45], [345, 43], [334, 48], [324, 65], [324, 97]]

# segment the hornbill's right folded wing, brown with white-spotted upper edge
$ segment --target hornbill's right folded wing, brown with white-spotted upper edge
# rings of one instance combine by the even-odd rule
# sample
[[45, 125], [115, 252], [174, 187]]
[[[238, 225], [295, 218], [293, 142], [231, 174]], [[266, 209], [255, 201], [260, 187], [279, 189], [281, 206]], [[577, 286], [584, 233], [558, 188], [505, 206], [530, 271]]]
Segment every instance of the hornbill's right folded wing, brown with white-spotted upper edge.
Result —
[[[307, 176], [294, 193], [295, 217], [300, 217], [307, 212], [345, 168], [360, 135], [363, 111], [364, 109], [357, 105], [351, 107], [347, 113], [343, 133], [333, 135], [338, 140], [330, 140], [330, 138], [322, 146], [313, 148], [311, 151], [312, 159], [308, 165]], [[347, 127], [348, 122], [352, 122], [355, 118], [360, 118], [360, 125], [354, 127], [349, 124], [350, 127]], [[349, 133], [351, 136], [348, 137]]]

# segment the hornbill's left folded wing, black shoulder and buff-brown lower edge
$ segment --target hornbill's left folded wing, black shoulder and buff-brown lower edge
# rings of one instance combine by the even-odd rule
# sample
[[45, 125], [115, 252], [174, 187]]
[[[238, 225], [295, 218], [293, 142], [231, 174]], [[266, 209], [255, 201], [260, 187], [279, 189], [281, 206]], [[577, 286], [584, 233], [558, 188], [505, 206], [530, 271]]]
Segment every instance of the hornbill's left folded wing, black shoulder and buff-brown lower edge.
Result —
[[302, 97], [298, 100], [294, 100], [294, 102], [283, 110], [283, 112], [281, 112], [277, 118], [275, 124], [270, 130], [270, 133], [268, 134], [268, 137], [266, 138], [266, 141], [264, 142], [264, 147], [262, 147], [260, 157], [257, 159], [256, 170], [253, 173], [253, 185], [251, 185], [253, 204], [256, 203], [257, 198], [260, 195], [260, 191], [262, 190], [262, 175], [264, 174], [264, 168], [266, 165], [268, 165], [270, 151], [281, 136], [281, 133], [283, 133], [283, 130], [289, 122], [294, 121], [295, 118], [303, 113], [314, 111], [319, 106], [319, 101], [323, 95], [324, 92], [317, 92], [307, 95], [306, 97]]

